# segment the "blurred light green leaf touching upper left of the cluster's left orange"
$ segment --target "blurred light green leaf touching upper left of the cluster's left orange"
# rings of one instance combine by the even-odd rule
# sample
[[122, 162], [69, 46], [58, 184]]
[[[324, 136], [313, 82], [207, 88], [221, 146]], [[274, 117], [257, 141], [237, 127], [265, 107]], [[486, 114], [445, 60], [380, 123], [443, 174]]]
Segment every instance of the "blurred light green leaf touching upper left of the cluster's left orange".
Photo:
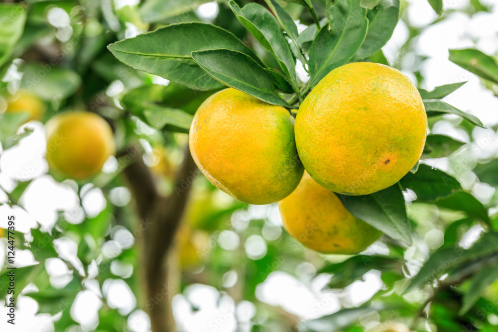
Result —
[[156, 108], [143, 111], [147, 123], [155, 129], [162, 129], [167, 124], [184, 129], [188, 132], [192, 123], [193, 115], [178, 109]]

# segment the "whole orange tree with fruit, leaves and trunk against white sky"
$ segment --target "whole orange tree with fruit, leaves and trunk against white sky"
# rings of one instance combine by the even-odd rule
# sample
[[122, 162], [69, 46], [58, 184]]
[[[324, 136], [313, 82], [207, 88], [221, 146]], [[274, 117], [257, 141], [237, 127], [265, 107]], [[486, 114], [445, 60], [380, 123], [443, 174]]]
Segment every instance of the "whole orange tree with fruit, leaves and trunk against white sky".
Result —
[[[35, 286], [24, 295], [54, 316], [55, 331], [83, 324], [72, 303], [89, 282], [99, 293], [109, 280], [124, 281], [153, 332], [183, 329], [171, 300], [194, 283], [236, 305], [251, 302], [256, 314], [239, 327], [250, 331], [496, 331], [497, 199], [483, 204], [457, 179], [472, 171], [497, 186], [498, 159], [465, 162], [459, 152], [473, 142], [431, 133], [449, 114], [444, 119], [463, 132], [484, 127], [441, 100], [465, 82], [426, 91], [420, 72], [411, 83], [386, 67], [405, 56], [423, 61], [411, 46], [422, 30], [407, 21], [407, 3], [231, 0], [207, 17], [198, 9], [204, 2], [0, 4], [0, 158], [30, 135], [34, 122], [26, 121], [41, 121], [49, 175], [76, 193], [83, 211], [79, 220], [59, 211], [48, 229], [0, 232], [35, 259], [17, 268], [16, 294]], [[443, 14], [442, 0], [428, 2]], [[469, 15], [488, 10], [471, 2], [463, 9]], [[400, 17], [409, 37], [389, 63], [381, 48]], [[495, 58], [460, 49], [449, 59], [496, 94]], [[458, 167], [428, 166], [435, 158]], [[106, 159], [111, 166], [101, 172]], [[1, 188], [7, 214], [24, 209], [39, 167]], [[85, 210], [90, 188], [106, 199], [97, 215]], [[274, 222], [274, 204], [248, 205], [279, 200], [292, 236]], [[123, 229], [135, 244], [125, 245]], [[472, 230], [479, 238], [468, 244]], [[238, 246], [223, 245], [223, 234]], [[351, 255], [324, 255], [293, 237]], [[75, 259], [54, 244], [60, 239], [76, 244]], [[248, 249], [254, 239], [264, 247], [258, 254]], [[70, 271], [62, 287], [44, 265], [53, 258]], [[337, 312], [307, 319], [256, 296], [275, 271], [300, 278], [295, 267], [303, 263], [313, 267], [306, 278], [329, 276]], [[116, 268], [123, 265], [131, 273]], [[373, 296], [357, 306], [341, 300], [373, 270], [382, 283]], [[224, 282], [233, 271], [235, 283]], [[130, 331], [129, 312], [103, 294], [98, 320], [81, 329]]]

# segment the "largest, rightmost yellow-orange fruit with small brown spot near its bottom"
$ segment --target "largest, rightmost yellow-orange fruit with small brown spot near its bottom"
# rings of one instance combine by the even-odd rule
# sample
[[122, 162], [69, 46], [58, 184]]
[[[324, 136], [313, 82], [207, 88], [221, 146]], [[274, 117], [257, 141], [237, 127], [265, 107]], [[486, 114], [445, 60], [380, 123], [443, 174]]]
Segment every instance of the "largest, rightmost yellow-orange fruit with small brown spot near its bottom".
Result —
[[420, 158], [427, 115], [417, 89], [396, 69], [350, 63], [331, 71], [296, 116], [299, 157], [336, 193], [367, 195], [395, 184]]

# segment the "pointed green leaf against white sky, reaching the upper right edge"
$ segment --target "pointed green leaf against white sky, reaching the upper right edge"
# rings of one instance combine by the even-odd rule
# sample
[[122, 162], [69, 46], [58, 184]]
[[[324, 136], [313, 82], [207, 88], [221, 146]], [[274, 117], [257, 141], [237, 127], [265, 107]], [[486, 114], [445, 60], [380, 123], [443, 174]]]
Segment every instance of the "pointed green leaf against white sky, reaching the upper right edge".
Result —
[[498, 84], [498, 63], [491, 56], [475, 49], [450, 50], [450, 61], [477, 76]]

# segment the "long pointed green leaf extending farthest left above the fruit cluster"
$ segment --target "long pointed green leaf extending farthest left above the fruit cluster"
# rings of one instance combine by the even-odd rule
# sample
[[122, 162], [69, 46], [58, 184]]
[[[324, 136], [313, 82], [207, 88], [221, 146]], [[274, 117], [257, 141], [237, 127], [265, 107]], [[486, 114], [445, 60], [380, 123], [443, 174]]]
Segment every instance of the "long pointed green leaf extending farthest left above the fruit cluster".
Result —
[[234, 34], [199, 22], [171, 24], [118, 41], [108, 48], [118, 60], [134, 69], [201, 91], [219, 89], [223, 84], [196, 64], [192, 52], [223, 48], [242, 52], [260, 63]]

